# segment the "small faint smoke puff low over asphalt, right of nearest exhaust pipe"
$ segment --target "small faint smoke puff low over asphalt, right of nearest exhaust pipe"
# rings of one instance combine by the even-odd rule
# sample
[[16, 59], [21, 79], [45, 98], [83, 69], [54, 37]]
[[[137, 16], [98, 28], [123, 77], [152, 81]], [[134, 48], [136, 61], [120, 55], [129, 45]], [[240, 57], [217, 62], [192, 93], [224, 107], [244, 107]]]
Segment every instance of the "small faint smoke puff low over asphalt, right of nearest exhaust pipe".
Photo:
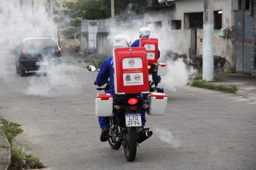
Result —
[[174, 138], [172, 132], [169, 132], [168, 130], [165, 129], [156, 129], [156, 133], [162, 142], [170, 144], [170, 146], [173, 148], [180, 147], [179, 140]]

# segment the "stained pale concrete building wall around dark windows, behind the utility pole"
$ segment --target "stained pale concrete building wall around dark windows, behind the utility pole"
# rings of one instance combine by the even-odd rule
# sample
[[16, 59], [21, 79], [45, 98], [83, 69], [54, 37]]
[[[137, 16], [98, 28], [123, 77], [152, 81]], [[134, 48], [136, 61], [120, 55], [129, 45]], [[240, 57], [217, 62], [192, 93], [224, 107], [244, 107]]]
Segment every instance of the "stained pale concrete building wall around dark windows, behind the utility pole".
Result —
[[[152, 32], [153, 37], [159, 38], [159, 47], [163, 46], [161, 50], [172, 51], [180, 55], [189, 57], [189, 48], [191, 47], [191, 29], [184, 29], [184, 13], [203, 12], [204, 0], [175, 0], [175, 7], [161, 10], [148, 10], [144, 13], [144, 23], [162, 21], [162, 30], [158, 33]], [[232, 28], [234, 23], [234, 12], [237, 9], [237, 0], [214, 0], [214, 11], [223, 11], [222, 13], [222, 27]], [[181, 20], [181, 29], [172, 30], [171, 20]], [[214, 55], [215, 58], [221, 57], [225, 61], [224, 69], [218, 67], [220, 71], [227, 71], [228, 67], [235, 66], [235, 58], [233, 55], [233, 44], [230, 38], [219, 37], [220, 30], [214, 31]], [[162, 35], [164, 34], [164, 35]], [[202, 57], [202, 45], [200, 39], [203, 38], [203, 30], [197, 30], [197, 57], [200, 60]], [[166, 43], [170, 42], [170, 43]], [[163, 45], [161, 45], [163, 43]]]

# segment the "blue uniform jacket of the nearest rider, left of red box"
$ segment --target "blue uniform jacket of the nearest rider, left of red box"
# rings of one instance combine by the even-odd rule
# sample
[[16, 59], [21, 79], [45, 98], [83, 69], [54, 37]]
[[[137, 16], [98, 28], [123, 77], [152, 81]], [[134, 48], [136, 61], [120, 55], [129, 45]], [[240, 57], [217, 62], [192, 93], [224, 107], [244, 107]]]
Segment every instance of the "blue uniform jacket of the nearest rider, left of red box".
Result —
[[115, 88], [114, 88], [114, 73], [113, 73], [113, 57], [108, 57], [104, 62], [102, 63], [100, 67], [100, 71], [97, 75], [96, 78], [96, 84], [98, 86], [104, 85], [109, 78], [109, 82], [111, 85], [111, 88], [108, 89], [106, 93], [109, 93], [113, 95], [115, 93]]

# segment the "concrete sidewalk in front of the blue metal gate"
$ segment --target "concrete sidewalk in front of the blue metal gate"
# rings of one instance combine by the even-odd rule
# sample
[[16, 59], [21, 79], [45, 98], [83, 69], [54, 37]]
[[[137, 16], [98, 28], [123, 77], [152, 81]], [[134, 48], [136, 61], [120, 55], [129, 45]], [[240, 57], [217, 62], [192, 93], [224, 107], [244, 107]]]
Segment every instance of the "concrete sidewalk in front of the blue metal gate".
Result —
[[[197, 77], [201, 78], [202, 77]], [[214, 85], [231, 86], [235, 85], [238, 89], [237, 94], [242, 95], [252, 101], [256, 101], [256, 78], [246, 74], [219, 74], [214, 75], [215, 81], [206, 83]]]

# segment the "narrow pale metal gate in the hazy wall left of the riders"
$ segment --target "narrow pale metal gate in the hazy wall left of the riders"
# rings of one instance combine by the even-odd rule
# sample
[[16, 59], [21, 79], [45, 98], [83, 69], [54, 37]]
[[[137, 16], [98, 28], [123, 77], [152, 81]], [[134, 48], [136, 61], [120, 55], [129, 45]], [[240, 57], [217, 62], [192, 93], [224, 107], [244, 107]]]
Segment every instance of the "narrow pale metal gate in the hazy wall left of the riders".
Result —
[[90, 48], [97, 48], [97, 32], [98, 22], [88, 20], [88, 46]]

